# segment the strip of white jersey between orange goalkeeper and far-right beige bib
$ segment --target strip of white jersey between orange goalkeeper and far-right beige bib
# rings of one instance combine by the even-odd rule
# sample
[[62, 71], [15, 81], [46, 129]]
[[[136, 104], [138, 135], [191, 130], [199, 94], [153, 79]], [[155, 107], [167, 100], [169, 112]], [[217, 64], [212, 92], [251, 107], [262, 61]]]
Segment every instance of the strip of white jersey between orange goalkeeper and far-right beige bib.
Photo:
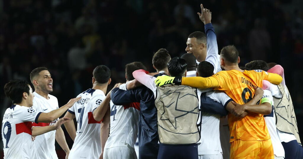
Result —
[[[262, 98], [269, 98], [271, 105], [273, 107], [274, 101], [271, 95], [271, 91], [264, 90]], [[272, 147], [274, 148], [274, 154], [276, 157], [285, 157], [284, 148], [280, 142], [279, 136], [277, 134], [277, 127], [276, 127], [276, 117], [275, 117], [275, 110], [272, 108], [271, 114], [264, 115], [264, 119], [266, 122], [266, 126], [268, 132], [271, 137]]]

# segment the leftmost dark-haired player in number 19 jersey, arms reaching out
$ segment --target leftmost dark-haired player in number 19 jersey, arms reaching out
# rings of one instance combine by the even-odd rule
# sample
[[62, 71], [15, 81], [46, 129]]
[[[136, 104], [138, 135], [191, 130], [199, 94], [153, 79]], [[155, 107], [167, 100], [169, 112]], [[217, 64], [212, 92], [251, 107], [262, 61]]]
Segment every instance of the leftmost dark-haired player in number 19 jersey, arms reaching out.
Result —
[[[29, 83], [24, 80], [11, 80], [4, 87], [5, 95], [12, 100], [2, 121], [2, 141], [5, 159], [33, 159], [31, 136], [38, 136], [57, 130], [67, 121], [62, 118], [57, 123], [45, 127], [33, 127], [33, 122], [49, 123], [60, 117], [80, 98], [71, 99], [59, 109], [48, 113], [36, 111], [33, 105], [34, 94]], [[40, 158], [40, 157], [39, 157]]]

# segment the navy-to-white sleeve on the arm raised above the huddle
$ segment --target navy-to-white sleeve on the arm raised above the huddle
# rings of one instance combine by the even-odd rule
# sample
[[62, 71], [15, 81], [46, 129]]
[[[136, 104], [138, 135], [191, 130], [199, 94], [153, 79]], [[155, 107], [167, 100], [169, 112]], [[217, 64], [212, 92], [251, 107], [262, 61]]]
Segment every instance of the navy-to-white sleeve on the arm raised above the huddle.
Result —
[[211, 23], [205, 24], [205, 34], [207, 39], [207, 54], [205, 61], [214, 66], [214, 73], [217, 73], [218, 67], [218, 44], [215, 29]]

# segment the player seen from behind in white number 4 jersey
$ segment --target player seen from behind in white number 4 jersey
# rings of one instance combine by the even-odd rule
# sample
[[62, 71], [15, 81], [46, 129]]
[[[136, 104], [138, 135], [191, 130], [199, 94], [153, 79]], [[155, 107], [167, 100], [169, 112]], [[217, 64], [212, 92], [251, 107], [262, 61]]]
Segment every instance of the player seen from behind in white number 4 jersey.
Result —
[[[137, 69], [146, 69], [141, 62], [132, 62], [126, 65], [126, 82], [135, 79], [132, 72]], [[124, 84], [126, 87], [126, 84]], [[125, 89], [126, 90], [126, 89]], [[119, 98], [117, 93], [111, 92], [110, 113], [104, 119], [110, 118], [109, 137], [105, 143], [104, 159], [136, 159], [135, 142], [138, 134], [138, 121], [140, 116], [140, 103], [133, 102], [124, 104], [125, 101]], [[122, 105], [123, 104], [123, 105]], [[103, 141], [103, 138], [102, 138]]]

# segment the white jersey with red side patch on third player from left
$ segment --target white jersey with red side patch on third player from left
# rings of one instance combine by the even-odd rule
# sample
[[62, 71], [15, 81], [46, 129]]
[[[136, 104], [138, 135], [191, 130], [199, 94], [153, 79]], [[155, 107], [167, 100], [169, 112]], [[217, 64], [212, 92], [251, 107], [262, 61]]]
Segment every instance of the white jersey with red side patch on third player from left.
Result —
[[88, 89], [77, 97], [80, 96], [82, 98], [68, 109], [68, 112], [75, 114], [78, 123], [75, 142], [68, 158], [99, 158], [101, 121], [94, 119], [93, 111], [104, 101], [105, 94], [99, 89]]

